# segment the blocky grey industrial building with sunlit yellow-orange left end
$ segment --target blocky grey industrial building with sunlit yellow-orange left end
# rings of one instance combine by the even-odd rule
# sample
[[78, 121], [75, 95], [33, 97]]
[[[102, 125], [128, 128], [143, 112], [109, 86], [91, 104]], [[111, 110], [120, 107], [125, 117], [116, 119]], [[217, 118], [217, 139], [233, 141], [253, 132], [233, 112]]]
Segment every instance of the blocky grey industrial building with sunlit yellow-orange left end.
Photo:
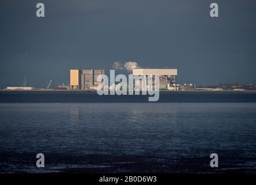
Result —
[[104, 69], [71, 69], [70, 87], [72, 90], [96, 89], [98, 75], [104, 75]]

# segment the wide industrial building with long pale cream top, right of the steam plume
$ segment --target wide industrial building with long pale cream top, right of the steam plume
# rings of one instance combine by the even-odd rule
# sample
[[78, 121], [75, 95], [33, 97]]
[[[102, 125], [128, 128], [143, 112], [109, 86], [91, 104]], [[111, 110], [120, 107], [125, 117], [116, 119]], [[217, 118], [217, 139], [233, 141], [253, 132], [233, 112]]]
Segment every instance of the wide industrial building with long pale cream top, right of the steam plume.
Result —
[[[159, 89], [167, 90], [170, 86], [175, 85], [177, 79], [177, 69], [175, 68], [134, 68], [133, 75], [155, 76], [159, 75]], [[174, 90], [177, 88], [175, 87]]]

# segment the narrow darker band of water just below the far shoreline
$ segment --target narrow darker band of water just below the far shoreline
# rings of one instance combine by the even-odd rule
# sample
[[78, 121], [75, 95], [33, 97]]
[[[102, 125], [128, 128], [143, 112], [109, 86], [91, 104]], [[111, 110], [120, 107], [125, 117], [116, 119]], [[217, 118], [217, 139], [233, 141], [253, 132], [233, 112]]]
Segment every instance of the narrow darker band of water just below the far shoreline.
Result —
[[[0, 91], [0, 103], [131, 103], [148, 102], [148, 95], [98, 95], [85, 91]], [[255, 102], [254, 92], [160, 92], [157, 103]]]

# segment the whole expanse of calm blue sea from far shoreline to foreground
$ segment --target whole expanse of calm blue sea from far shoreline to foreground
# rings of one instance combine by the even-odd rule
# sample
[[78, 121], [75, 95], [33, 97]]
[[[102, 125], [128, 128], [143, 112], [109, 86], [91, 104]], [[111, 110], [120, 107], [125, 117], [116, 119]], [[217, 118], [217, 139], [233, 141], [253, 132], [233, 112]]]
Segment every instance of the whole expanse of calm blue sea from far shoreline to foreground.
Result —
[[[0, 172], [256, 172], [254, 93], [146, 99], [0, 92]], [[37, 153], [45, 168], [36, 168]], [[210, 168], [211, 153], [219, 168]]]

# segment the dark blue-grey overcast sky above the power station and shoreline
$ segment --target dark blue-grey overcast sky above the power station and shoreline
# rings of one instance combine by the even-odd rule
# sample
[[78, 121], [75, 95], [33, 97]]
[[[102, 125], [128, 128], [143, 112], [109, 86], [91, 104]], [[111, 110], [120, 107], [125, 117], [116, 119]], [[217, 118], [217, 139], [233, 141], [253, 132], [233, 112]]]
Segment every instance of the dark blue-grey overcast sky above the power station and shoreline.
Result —
[[71, 68], [109, 71], [114, 61], [178, 68], [178, 83], [255, 83], [255, 18], [254, 0], [1, 0], [0, 88], [24, 76], [67, 84]]

